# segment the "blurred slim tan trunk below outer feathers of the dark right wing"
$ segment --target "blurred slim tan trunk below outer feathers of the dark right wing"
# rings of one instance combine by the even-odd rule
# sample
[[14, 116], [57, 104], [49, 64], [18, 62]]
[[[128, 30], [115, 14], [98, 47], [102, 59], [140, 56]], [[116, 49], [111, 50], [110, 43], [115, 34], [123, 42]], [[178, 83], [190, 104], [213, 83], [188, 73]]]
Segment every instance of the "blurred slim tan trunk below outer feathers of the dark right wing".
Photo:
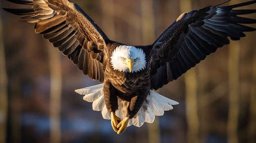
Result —
[[[232, 0], [230, 4], [237, 4], [239, 0]], [[232, 41], [229, 44], [229, 114], [227, 121], [228, 143], [238, 143], [238, 117], [239, 117], [239, 55], [240, 42]]]

